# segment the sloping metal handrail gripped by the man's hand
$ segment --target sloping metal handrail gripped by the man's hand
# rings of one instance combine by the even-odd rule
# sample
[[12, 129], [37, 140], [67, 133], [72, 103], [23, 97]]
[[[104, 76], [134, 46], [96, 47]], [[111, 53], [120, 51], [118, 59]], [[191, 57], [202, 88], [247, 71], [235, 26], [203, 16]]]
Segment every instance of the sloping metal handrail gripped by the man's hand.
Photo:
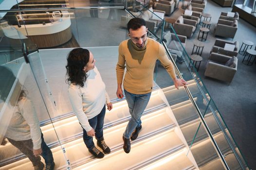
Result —
[[[175, 68], [175, 70], [176, 70], [176, 73], [178, 74], [179, 78], [182, 79], [183, 77], [182, 77], [182, 75], [181, 75], [181, 73], [180, 73], [178, 67], [176, 66], [176, 64], [175, 64], [175, 62], [174, 62], [174, 60], [173, 60], [173, 58], [171, 57], [171, 54], [170, 54], [170, 52], [168, 51], [168, 48], [167, 48], [165, 42], [162, 41], [162, 44], [164, 45], [165, 51], [167, 52], [168, 57], [170, 58], [170, 60], [172, 61], [173, 65], [174, 65], [174, 68]], [[192, 96], [190, 90], [189, 90], [186, 86], [185, 86], [184, 88], [185, 88], [185, 91], [186, 91], [186, 93], [187, 93], [187, 95], [188, 95], [190, 101], [192, 102], [192, 105], [193, 105], [194, 109], [196, 110], [196, 112], [197, 112], [197, 114], [198, 114], [198, 116], [199, 116], [199, 118], [200, 118], [200, 121], [201, 121], [201, 123], [202, 123], [202, 125], [203, 125], [205, 131], [207, 132], [207, 134], [208, 134], [208, 136], [209, 136], [209, 138], [210, 138], [210, 140], [211, 140], [211, 142], [212, 142], [212, 144], [213, 144], [213, 146], [214, 146], [215, 151], [216, 151], [216, 152], [218, 153], [218, 155], [219, 155], [219, 158], [220, 158], [220, 161], [221, 161], [222, 165], [224, 166], [225, 170], [230, 170], [229, 167], [228, 167], [228, 165], [227, 165], [227, 163], [226, 163], [226, 161], [225, 161], [225, 159], [224, 159], [224, 156], [222, 155], [222, 153], [221, 153], [221, 151], [220, 151], [220, 149], [219, 149], [218, 144], [216, 143], [216, 141], [215, 141], [215, 139], [214, 139], [214, 137], [213, 137], [213, 135], [212, 135], [212, 133], [211, 133], [209, 127], [208, 127], [208, 125], [206, 124], [205, 120], [203, 119], [203, 116], [202, 116], [202, 114], [201, 114], [201, 111], [200, 111], [200, 109], [198, 108], [196, 102], [194, 101], [193, 96]]]

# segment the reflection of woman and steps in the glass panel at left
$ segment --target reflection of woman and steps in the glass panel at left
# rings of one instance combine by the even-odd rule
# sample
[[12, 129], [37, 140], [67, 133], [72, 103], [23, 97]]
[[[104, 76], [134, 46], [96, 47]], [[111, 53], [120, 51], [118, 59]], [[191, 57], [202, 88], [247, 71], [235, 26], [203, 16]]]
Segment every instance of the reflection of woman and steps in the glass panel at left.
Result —
[[47, 144], [55, 135], [43, 137], [40, 129], [41, 116], [48, 115], [46, 108], [38, 98], [40, 95], [29, 65], [22, 58], [19, 63], [22, 63], [20, 67], [12, 67], [11, 63], [0, 66], [0, 72], [4, 73], [0, 74], [0, 81], [5, 82], [0, 85], [3, 105], [0, 112], [0, 166], [3, 170], [21, 164], [22, 169], [41, 169], [44, 164], [39, 155], [43, 156], [43, 162], [47, 165], [54, 166], [54, 158]]

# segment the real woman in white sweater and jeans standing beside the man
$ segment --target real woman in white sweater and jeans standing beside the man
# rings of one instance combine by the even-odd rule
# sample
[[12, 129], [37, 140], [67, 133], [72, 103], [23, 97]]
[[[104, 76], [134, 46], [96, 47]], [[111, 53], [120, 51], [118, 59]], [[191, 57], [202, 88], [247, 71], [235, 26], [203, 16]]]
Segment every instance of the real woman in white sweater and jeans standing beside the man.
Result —
[[[82, 48], [73, 49], [67, 61], [69, 97], [74, 113], [82, 125], [84, 142], [91, 154], [96, 158], [103, 158], [104, 153], [110, 153], [110, 148], [103, 137], [106, 101], [108, 110], [112, 109], [105, 84], [94, 66], [95, 60], [90, 51]], [[94, 146], [93, 136], [104, 153]]]

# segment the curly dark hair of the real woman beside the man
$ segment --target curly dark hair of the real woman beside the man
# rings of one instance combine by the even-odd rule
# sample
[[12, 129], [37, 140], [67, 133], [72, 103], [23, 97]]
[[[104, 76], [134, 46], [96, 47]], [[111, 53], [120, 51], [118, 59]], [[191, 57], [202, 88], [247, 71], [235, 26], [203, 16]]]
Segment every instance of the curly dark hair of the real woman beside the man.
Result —
[[70, 51], [67, 58], [67, 75], [66, 80], [68, 84], [74, 83], [76, 85], [84, 86], [87, 75], [84, 67], [89, 62], [90, 52], [87, 49], [76, 48]]

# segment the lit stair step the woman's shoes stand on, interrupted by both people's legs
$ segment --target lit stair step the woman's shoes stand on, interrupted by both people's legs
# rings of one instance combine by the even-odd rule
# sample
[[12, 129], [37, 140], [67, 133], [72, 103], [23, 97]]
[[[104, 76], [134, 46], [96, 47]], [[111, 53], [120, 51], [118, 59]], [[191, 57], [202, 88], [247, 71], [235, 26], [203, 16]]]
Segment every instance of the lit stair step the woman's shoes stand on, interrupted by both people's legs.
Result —
[[[161, 132], [161, 130], [163, 131], [163, 129], [165, 131], [166, 128], [170, 129], [175, 126], [175, 124], [172, 122], [168, 114], [165, 112], [165, 108], [155, 111], [153, 113], [144, 115], [142, 117], [142, 120], [143, 120], [143, 128], [137, 140], [143, 139], [146, 136], [151, 136], [152, 134], [157, 133], [158, 131]], [[116, 149], [122, 149], [122, 145], [123, 145], [122, 136], [123, 136], [123, 132], [125, 131], [127, 123], [128, 122], [124, 122], [104, 130], [105, 141], [110, 146], [112, 152]], [[136, 140], [133, 142], [136, 142]], [[96, 143], [96, 141], [94, 141], [94, 143]], [[62, 147], [66, 149], [66, 156], [70, 160], [73, 166], [83, 164], [85, 162], [89, 162], [93, 158], [91, 153], [89, 153], [88, 149], [86, 148], [83, 142], [82, 136], [76, 140], [62, 144]], [[55, 147], [52, 149], [52, 152], [54, 154], [56, 168], [64, 168], [66, 165], [66, 161], [64, 159], [62, 150], [59, 147]], [[25, 161], [26, 163], [24, 162], [24, 160], [26, 160]], [[22, 159], [20, 161], [14, 162], [12, 164], [6, 165], [0, 168], [0, 170], [9, 170], [9, 169], [16, 170], [17, 167], [20, 168], [21, 162], [22, 164], [24, 164], [24, 166], [26, 166], [26, 167], [23, 167], [22, 165], [22, 169], [29, 169], [30, 167], [32, 167], [32, 164], [30, 163], [28, 158], [26, 158], [26, 159]]]

